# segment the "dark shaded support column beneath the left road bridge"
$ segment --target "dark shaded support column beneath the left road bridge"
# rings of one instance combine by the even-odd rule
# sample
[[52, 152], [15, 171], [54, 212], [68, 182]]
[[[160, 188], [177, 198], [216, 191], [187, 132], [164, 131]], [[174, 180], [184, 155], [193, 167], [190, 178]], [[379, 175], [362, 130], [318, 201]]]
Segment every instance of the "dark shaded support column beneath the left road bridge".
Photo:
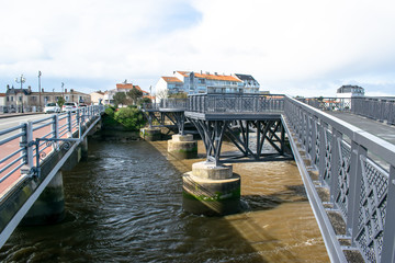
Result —
[[22, 226], [50, 225], [65, 218], [61, 172], [57, 172], [21, 221]]

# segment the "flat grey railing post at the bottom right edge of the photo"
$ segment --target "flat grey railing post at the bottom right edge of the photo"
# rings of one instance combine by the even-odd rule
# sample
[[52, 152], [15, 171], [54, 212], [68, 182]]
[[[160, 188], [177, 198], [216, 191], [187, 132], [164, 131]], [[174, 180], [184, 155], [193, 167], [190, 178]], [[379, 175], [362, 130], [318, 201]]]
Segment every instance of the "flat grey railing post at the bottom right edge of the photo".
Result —
[[390, 167], [383, 250], [380, 262], [395, 262], [395, 167]]

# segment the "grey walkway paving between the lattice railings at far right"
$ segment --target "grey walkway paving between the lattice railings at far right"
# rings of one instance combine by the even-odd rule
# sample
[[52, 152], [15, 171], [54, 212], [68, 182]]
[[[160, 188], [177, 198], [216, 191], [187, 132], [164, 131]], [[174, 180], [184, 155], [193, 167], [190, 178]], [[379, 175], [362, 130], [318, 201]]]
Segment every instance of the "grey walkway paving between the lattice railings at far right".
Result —
[[379, 121], [374, 121], [371, 118], [362, 117], [350, 113], [343, 113], [343, 112], [326, 112], [326, 113], [395, 145], [395, 126], [387, 125]]

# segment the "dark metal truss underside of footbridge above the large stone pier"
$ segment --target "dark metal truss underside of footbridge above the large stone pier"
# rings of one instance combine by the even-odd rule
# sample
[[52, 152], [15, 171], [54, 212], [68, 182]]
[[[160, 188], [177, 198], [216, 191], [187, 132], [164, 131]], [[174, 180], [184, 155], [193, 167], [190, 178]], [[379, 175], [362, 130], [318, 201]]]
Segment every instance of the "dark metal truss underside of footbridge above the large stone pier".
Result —
[[[232, 118], [232, 117], [233, 118]], [[293, 156], [280, 116], [189, 116], [206, 149], [207, 161], [222, 162], [283, 161]], [[224, 139], [236, 150], [222, 152]]]

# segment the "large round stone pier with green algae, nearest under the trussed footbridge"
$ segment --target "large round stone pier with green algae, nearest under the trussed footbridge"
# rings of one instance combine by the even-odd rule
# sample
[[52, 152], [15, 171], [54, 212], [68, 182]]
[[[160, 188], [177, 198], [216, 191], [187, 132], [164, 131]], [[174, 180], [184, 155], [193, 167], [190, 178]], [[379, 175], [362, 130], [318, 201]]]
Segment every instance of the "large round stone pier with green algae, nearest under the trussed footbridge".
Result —
[[240, 210], [240, 176], [232, 165], [196, 162], [184, 173], [183, 209], [206, 216], [223, 216]]

